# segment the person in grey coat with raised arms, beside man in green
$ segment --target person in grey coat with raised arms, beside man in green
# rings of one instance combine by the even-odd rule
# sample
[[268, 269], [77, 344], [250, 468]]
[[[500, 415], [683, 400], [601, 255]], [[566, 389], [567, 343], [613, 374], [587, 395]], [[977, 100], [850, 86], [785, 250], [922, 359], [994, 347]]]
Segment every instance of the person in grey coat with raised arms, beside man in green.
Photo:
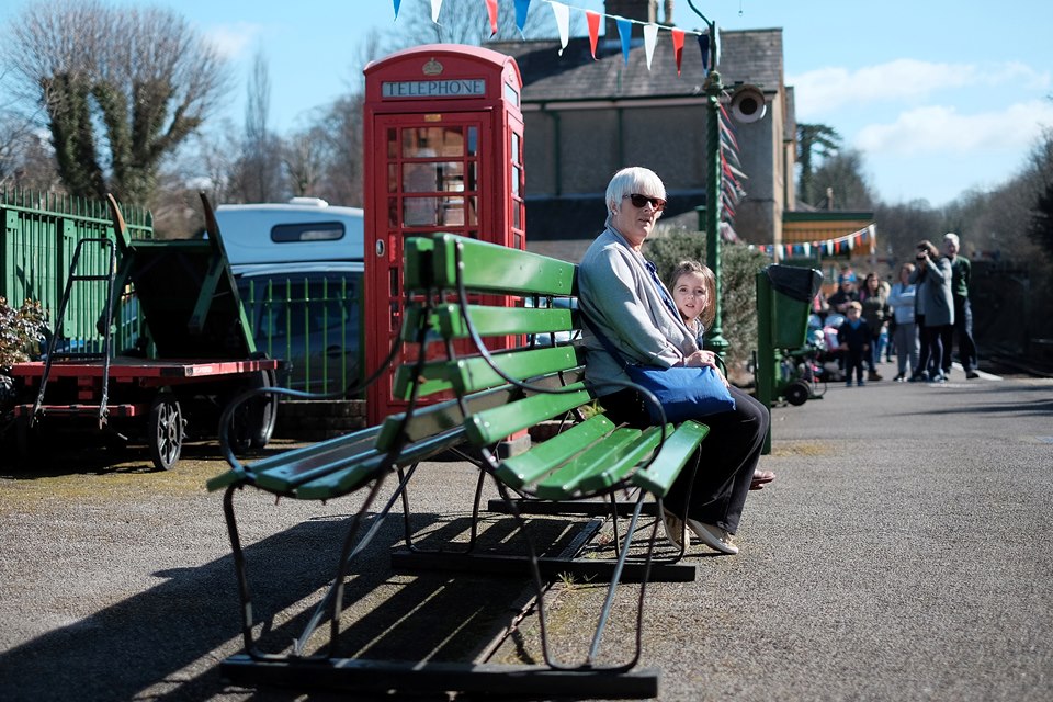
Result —
[[917, 269], [909, 282], [917, 284], [915, 320], [921, 337], [921, 353], [912, 382], [943, 383], [943, 338], [954, 328], [954, 298], [951, 295], [951, 261], [941, 257], [928, 239], [919, 241]]

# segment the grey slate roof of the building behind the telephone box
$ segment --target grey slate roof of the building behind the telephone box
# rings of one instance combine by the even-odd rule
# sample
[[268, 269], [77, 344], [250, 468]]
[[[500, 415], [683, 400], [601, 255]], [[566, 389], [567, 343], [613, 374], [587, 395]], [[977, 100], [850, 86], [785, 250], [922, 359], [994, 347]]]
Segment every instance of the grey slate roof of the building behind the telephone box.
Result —
[[[765, 92], [782, 87], [782, 30], [720, 31], [717, 70], [725, 86], [754, 83]], [[669, 33], [659, 32], [647, 70], [642, 38], [634, 38], [629, 64], [621, 42], [600, 38], [593, 60], [588, 37], [570, 39], [563, 55], [556, 39], [495, 42], [488, 48], [516, 58], [523, 78], [523, 102], [697, 97], [703, 92], [702, 52], [684, 36], [681, 72]]]

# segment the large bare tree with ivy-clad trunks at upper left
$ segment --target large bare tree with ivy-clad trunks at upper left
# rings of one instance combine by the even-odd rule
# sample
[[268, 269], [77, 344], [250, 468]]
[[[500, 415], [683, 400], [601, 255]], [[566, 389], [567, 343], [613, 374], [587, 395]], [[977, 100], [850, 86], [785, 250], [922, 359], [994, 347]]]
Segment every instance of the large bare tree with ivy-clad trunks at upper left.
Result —
[[229, 80], [216, 48], [170, 10], [99, 0], [29, 5], [4, 60], [44, 110], [68, 192], [148, 203], [162, 160], [219, 105]]

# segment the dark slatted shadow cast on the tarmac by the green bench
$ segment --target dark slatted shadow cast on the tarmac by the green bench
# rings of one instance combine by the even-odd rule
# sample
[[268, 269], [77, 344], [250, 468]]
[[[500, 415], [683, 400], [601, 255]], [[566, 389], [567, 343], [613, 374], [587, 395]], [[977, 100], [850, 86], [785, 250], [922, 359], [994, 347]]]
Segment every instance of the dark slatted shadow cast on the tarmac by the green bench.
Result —
[[[466, 533], [469, 519], [418, 514], [419, 546], [438, 547]], [[507, 517], [486, 519], [479, 547], [522, 555], [522, 539]], [[573, 539], [565, 519], [531, 520], [533, 533], [557, 552]], [[578, 521], [577, 524], [581, 522]], [[328, 585], [343, 519], [306, 521], [246, 544], [261, 649], [288, 650]], [[472, 660], [478, 647], [518, 612], [526, 577], [449, 573], [396, 574], [388, 554], [401, 543], [401, 516], [393, 514], [376, 540], [352, 564], [346, 589], [337, 655], [392, 660]], [[154, 574], [166, 582], [68, 626], [0, 654], [0, 689], [19, 699], [155, 700], [208, 699], [225, 691], [217, 665], [190, 679], [180, 673], [218, 648], [240, 653], [240, 603], [234, 563], [226, 556], [197, 567]], [[371, 593], [372, 595], [369, 595]], [[366, 597], [369, 595], [369, 597]], [[305, 601], [307, 602], [305, 604]], [[284, 613], [278, 620], [270, 619]], [[288, 619], [290, 613], [292, 618]], [[32, 616], [32, 613], [26, 613]], [[312, 638], [328, 635], [328, 625]], [[217, 659], [215, 664], [218, 664]], [[199, 669], [200, 664], [193, 669]], [[145, 691], [149, 690], [149, 694]], [[158, 692], [160, 690], [160, 692]], [[262, 697], [260, 697], [262, 695]], [[253, 697], [303, 699], [301, 693], [261, 689]], [[320, 699], [312, 695], [313, 699]], [[387, 698], [390, 699], [390, 698]], [[445, 699], [442, 697], [441, 699]]]

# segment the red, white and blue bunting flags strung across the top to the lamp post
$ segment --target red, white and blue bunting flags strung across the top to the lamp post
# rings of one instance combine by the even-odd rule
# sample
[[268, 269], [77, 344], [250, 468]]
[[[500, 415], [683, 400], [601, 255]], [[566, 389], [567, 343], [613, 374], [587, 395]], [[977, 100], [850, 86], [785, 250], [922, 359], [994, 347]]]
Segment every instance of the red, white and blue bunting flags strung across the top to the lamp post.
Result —
[[[483, 0], [486, 3], [487, 18], [490, 22], [490, 36], [497, 34], [498, 26], [498, 0]], [[526, 16], [530, 12], [530, 1], [531, 0], [514, 0], [516, 7], [516, 26], [519, 29], [520, 35], [523, 34], [524, 27], [526, 26]], [[566, 2], [561, 2], [559, 0], [540, 0], [541, 2], [548, 3], [548, 7], [552, 8], [553, 15], [556, 20], [556, 27], [559, 32], [559, 55], [563, 55], [567, 44], [569, 43], [569, 33], [570, 33], [570, 10], [576, 12], [584, 12], [586, 18], [586, 24], [589, 31], [589, 46], [592, 49], [592, 58], [596, 58], [596, 47], [599, 42], [600, 35], [600, 20], [609, 19], [614, 20], [615, 26], [618, 27], [619, 38], [622, 44], [622, 54], [624, 56], [625, 63], [629, 64], [629, 53], [630, 53], [630, 36], [632, 35], [632, 29], [634, 24], [639, 24], [643, 26], [644, 31], [644, 49], [647, 55], [647, 70], [650, 70], [652, 58], [655, 54], [655, 45], [658, 41], [659, 30], [665, 30], [669, 32], [672, 41], [673, 54], [677, 61], [677, 76], [681, 75], [681, 64], [683, 59], [683, 39], [684, 36], [691, 34], [698, 38], [699, 50], [702, 52], [702, 73], [707, 76], [715, 64], [720, 63], [720, 37], [710, 36], [709, 31], [699, 32], [692, 30], [681, 30], [679, 27], [657, 24], [655, 22], [642, 22], [639, 20], [630, 20], [629, 18], [619, 16], [615, 14], [604, 14], [602, 12], [596, 12], [593, 10], [586, 10], [584, 8], [576, 8]], [[401, 0], [393, 0], [395, 8], [395, 20], [398, 20], [398, 11], [401, 7]], [[435, 24], [439, 24], [439, 14], [442, 10], [442, 0], [431, 0], [431, 21]], [[613, 38], [613, 37], [610, 37]], [[711, 61], [711, 57], [715, 57], [715, 60]], [[710, 64], [714, 64], [711, 66]]]

